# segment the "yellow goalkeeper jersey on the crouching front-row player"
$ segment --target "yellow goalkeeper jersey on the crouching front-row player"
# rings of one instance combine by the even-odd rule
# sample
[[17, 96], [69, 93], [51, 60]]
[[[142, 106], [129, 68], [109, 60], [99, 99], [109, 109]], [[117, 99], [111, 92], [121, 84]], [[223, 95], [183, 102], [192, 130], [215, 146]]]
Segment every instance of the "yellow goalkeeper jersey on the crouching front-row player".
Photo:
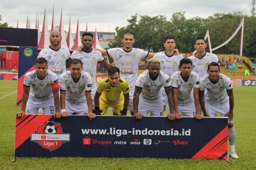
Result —
[[101, 93], [100, 98], [110, 104], [115, 104], [123, 99], [123, 94], [130, 92], [129, 84], [120, 78], [118, 85], [112, 87], [109, 78], [104, 78], [98, 83], [97, 92]]

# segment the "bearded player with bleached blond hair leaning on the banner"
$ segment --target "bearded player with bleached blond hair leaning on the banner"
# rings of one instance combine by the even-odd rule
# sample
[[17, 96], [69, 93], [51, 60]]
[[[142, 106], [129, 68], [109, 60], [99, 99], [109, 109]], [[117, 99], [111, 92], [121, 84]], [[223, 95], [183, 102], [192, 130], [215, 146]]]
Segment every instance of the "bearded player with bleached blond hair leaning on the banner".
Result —
[[164, 108], [159, 91], [165, 87], [168, 97], [170, 110], [167, 115], [170, 120], [182, 118], [181, 114], [174, 115], [173, 100], [171, 92], [170, 77], [160, 71], [160, 60], [152, 58], [149, 60], [149, 68], [144, 71], [136, 80], [135, 92], [133, 97], [134, 116], [136, 119], [142, 119], [143, 116], [162, 116]]

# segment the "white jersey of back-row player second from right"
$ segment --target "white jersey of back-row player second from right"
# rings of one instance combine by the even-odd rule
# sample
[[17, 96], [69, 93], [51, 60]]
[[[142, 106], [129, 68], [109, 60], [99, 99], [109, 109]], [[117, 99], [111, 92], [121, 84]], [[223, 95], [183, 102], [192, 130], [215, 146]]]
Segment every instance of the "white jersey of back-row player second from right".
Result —
[[183, 56], [181, 54], [168, 56], [165, 52], [159, 52], [153, 58], [161, 60], [161, 71], [171, 77], [174, 72], [179, 71], [180, 60]]

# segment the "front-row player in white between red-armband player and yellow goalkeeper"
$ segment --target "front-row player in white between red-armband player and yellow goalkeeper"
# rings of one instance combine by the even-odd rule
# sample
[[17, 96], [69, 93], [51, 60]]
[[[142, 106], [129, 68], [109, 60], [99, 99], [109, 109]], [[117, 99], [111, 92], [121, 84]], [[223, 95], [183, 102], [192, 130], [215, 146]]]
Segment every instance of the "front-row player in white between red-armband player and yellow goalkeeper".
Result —
[[[91, 103], [91, 76], [83, 71], [83, 63], [73, 59], [69, 70], [60, 77], [61, 113], [63, 117], [87, 115], [90, 120], [95, 118]], [[87, 101], [87, 104], [86, 104]]]

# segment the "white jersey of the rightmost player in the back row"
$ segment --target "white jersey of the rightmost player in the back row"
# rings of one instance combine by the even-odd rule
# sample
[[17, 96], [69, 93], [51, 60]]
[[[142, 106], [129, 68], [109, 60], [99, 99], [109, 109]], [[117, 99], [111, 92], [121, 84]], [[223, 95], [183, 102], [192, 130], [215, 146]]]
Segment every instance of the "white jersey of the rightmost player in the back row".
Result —
[[208, 64], [218, 62], [218, 57], [212, 53], [206, 53], [202, 58], [197, 58], [196, 54], [189, 57], [193, 63], [193, 71], [199, 74], [199, 78], [207, 75]]

